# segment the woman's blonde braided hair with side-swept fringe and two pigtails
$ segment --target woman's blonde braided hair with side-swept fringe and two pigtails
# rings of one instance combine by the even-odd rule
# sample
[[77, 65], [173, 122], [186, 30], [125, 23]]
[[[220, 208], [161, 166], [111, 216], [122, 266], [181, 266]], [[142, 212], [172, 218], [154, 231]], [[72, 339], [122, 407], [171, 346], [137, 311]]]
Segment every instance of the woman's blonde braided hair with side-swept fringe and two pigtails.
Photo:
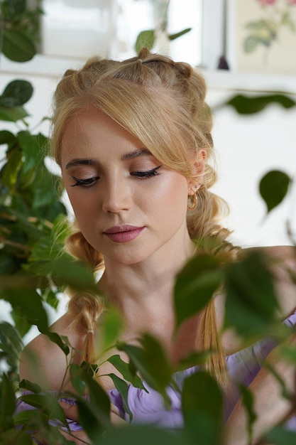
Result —
[[[197, 192], [197, 207], [188, 212], [190, 237], [202, 240], [214, 237], [222, 244], [229, 231], [219, 225], [226, 205], [209, 191], [216, 181], [211, 165], [213, 141], [212, 115], [205, 102], [204, 78], [187, 63], [175, 63], [164, 55], [146, 48], [122, 62], [91, 58], [81, 70], [67, 70], [57, 85], [53, 107], [52, 146], [60, 164], [62, 134], [67, 120], [75, 113], [95, 107], [114, 119], [166, 166], [187, 178], [202, 183]], [[207, 154], [205, 170], [198, 178], [192, 171], [192, 154], [202, 149]], [[67, 239], [67, 250], [76, 258], [91, 264], [94, 272], [104, 267], [102, 255], [76, 230]], [[234, 254], [225, 243], [227, 254]], [[75, 295], [70, 300], [75, 325], [84, 333], [93, 331], [95, 321], [104, 309], [102, 297]], [[204, 335], [200, 333], [204, 331]], [[94, 359], [92, 336], [87, 336], [84, 360]], [[224, 353], [216, 327], [214, 304], [204, 310], [198, 334], [199, 348], [212, 348], [209, 369], [224, 385]], [[222, 360], [223, 359], [223, 360]]]

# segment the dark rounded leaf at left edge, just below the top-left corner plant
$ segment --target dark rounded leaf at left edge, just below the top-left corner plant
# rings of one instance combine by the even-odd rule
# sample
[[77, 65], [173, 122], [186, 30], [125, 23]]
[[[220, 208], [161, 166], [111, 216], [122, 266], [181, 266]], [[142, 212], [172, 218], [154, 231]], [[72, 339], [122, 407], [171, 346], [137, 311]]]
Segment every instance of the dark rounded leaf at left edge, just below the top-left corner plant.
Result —
[[13, 80], [6, 85], [6, 88], [0, 96], [0, 105], [2, 107], [18, 107], [31, 99], [33, 87], [27, 80]]

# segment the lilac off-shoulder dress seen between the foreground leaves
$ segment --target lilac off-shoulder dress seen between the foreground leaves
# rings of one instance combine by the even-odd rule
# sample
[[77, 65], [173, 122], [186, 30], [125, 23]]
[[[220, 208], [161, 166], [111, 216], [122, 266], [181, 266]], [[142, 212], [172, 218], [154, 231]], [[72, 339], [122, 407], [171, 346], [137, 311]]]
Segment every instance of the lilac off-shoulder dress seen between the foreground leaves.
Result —
[[[285, 321], [287, 326], [296, 325], [296, 312], [289, 316]], [[234, 396], [231, 400], [226, 400], [224, 407], [224, 419], [226, 420], [234, 409], [234, 405], [239, 400], [239, 385], [251, 384], [253, 379], [261, 370], [263, 360], [267, 357], [273, 348], [275, 348], [275, 341], [263, 338], [260, 341], [254, 343], [248, 348], [240, 350], [237, 353], [228, 355], [226, 357], [226, 363], [229, 369], [229, 375], [231, 382], [234, 385]], [[198, 372], [198, 367], [194, 366], [184, 371], [176, 372], [174, 375], [175, 381], [178, 387], [182, 387], [182, 382], [186, 377], [192, 375], [194, 372]], [[168, 410], [163, 404], [163, 397], [145, 384], [148, 393], [139, 388], [129, 385], [128, 387], [128, 406], [133, 414], [133, 424], [155, 424], [160, 427], [166, 427], [170, 429], [182, 427], [182, 409], [181, 409], [181, 395], [172, 387], [168, 387], [168, 395], [171, 400], [171, 409]], [[28, 394], [28, 392], [24, 392]], [[124, 411], [121, 395], [118, 390], [110, 390], [109, 397], [111, 403], [116, 407], [116, 411], [119, 413], [122, 419], [127, 422], [129, 420], [128, 414]], [[59, 400], [67, 402], [69, 404], [75, 404], [75, 400], [59, 397]], [[18, 400], [17, 412], [23, 409], [33, 409], [28, 404]], [[57, 422], [53, 422], [57, 425]], [[287, 422], [287, 427], [295, 429], [296, 431], [296, 417], [292, 417]], [[78, 431], [82, 429], [77, 422], [70, 421], [70, 429], [72, 431]]]

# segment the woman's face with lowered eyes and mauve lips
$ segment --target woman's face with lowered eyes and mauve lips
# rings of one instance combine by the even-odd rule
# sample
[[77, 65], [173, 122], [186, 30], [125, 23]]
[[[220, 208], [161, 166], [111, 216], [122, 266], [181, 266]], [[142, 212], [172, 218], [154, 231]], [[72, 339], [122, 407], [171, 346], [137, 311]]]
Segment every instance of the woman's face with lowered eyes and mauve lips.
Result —
[[192, 184], [106, 114], [91, 108], [70, 118], [61, 167], [80, 230], [105, 262], [135, 264], [188, 251]]

